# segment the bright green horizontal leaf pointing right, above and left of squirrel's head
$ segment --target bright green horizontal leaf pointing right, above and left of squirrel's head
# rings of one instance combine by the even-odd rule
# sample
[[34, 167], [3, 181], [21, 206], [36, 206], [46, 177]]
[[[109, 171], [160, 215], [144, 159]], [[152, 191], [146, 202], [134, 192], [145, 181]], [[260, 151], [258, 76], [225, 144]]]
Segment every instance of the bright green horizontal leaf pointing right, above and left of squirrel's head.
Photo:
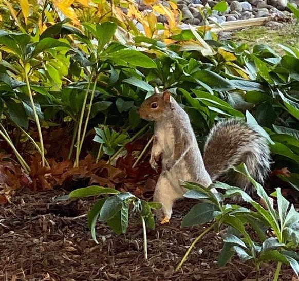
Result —
[[113, 55], [106, 55], [114, 63], [123, 66], [140, 66], [144, 68], [157, 68], [156, 63], [140, 51], [123, 49], [114, 52]]

